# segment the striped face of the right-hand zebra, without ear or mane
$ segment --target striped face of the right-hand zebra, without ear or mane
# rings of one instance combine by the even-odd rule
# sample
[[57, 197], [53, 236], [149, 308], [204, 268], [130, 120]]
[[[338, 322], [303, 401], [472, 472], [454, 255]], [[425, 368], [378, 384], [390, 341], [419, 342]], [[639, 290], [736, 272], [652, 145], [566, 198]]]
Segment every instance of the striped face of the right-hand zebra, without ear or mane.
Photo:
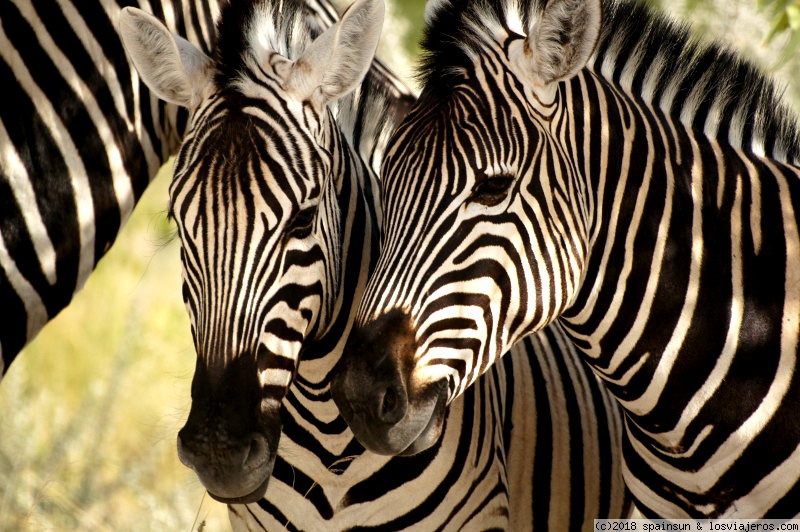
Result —
[[[544, 326], [574, 292], [584, 250], [554, 242], [569, 243], [567, 231], [581, 221], [542, 215], [551, 207], [571, 213], [572, 169], [547, 109], [518, 89], [504, 87], [505, 98], [492, 100], [496, 87], [481, 87], [486, 99], [467, 84], [458, 87], [447, 101], [412, 111], [389, 146], [381, 255], [340, 367], [378, 368], [368, 380], [386, 388], [380, 408], [389, 440], [415, 444], [384, 446], [373, 435], [382, 427], [374, 419], [365, 420], [369, 433], [362, 434], [348, 406], [358, 401], [338, 401], [372, 450], [430, 445], [438, 435], [428, 434], [431, 417], [442, 418], [445, 402]], [[487, 123], [482, 115], [490, 109], [495, 118]]]

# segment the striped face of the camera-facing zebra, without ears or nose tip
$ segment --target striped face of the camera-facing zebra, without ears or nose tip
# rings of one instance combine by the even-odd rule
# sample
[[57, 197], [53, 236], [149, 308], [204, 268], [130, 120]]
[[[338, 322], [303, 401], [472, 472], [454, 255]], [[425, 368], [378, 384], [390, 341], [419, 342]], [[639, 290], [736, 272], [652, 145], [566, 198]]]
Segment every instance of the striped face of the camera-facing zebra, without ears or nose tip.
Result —
[[331, 118], [277, 88], [252, 89], [204, 104], [175, 161], [172, 213], [198, 354], [184, 455], [224, 426], [274, 459], [300, 350], [336, 297]]

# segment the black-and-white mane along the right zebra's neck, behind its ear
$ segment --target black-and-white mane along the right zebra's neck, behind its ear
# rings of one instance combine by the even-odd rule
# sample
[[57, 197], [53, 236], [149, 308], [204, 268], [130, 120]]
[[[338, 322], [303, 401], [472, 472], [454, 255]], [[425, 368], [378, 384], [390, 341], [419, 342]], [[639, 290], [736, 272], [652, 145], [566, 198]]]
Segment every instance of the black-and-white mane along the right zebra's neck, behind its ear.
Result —
[[604, 0], [591, 70], [652, 112], [734, 149], [796, 165], [797, 117], [753, 63], [644, 2]]

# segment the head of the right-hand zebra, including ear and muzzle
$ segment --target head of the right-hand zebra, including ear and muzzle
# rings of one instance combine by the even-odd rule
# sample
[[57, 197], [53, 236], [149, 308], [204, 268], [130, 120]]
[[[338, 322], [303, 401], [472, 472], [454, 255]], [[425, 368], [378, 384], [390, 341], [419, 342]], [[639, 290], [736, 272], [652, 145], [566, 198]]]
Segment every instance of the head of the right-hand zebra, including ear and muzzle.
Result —
[[388, 146], [381, 256], [332, 388], [375, 452], [436, 441], [445, 405], [575, 295], [588, 206], [559, 83], [587, 64], [601, 7], [535, 11], [428, 5], [423, 91]]

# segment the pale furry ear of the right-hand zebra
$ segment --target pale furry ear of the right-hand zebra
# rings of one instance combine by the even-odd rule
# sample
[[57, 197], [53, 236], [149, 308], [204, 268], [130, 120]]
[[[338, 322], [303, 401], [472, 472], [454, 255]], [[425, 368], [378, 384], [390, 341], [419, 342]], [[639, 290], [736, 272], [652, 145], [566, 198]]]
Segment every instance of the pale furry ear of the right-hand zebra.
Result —
[[571, 78], [594, 52], [601, 20], [600, 0], [550, 0], [531, 23], [520, 66], [527, 66], [540, 88]]

